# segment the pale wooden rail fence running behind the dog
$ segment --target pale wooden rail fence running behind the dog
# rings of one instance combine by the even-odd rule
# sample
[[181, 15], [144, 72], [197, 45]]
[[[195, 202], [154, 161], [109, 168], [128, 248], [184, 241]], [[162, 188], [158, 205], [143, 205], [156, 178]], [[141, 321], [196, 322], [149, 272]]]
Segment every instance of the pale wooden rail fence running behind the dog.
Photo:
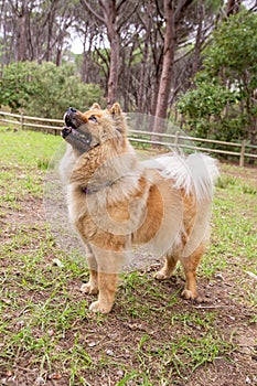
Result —
[[[63, 128], [63, 120], [61, 119], [29, 117], [6, 111], [0, 111], [0, 122], [11, 124], [18, 126], [21, 129], [31, 128], [33, 130], [41, 130], [53, 133], [55, 136], [60, 135]], [[180, 147], [190, 150], [206, 151], [208, 153], [237, 157], [240, 167], [244, 167], [246, 159], [257, 160], [257, 146], [249, 144], [246, 140], [238, 142], [225, 142], [212, 139], [186, 137], [182, 136], [180, 131], [176, 131], [175, 133], [153, 133], [151, 131], [129, 130], [129, 140], [138, 143], [148, 143], [174, 148]], [[152, 140], [153, 136], [154, 140]], [[160, 140], [156, 140], [158, 137], [160, 138]], [[192, 142], [196, 143], [192, 144]], [[201, 143], [201, 147], [199, 147], [197, 143]], [[208, 148], [208, 143], [215, 143], [216, 148]], [[202, 147], [202, 144], [204, 146]], [[222, 149], [222, 147], [232, 148], [232, 150], [224, 150]], [[251, 150], [253, 152], [250, 152]]]

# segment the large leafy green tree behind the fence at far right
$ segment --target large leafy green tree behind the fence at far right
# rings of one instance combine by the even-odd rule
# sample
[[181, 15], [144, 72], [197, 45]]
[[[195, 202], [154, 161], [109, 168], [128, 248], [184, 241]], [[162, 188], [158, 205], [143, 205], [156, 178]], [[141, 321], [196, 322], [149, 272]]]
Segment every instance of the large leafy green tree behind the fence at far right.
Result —
[[176, 105], [195, 135], [221, 140], [257, 140], [257, 15], [240, 12], [224, 21], [205, 50], [194, 88]]

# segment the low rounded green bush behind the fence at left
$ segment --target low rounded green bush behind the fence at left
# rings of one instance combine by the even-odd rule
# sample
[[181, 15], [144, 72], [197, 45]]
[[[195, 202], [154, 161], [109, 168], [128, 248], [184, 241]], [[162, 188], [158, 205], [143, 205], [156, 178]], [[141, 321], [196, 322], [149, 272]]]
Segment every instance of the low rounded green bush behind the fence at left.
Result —
[[47, 118], [62, 117], [68, 106], [85, 110], [101, 99], [100, 88], [82, 83], [73, 65], [51, 62], [11, 63], [2, 71], [0, 86], [0, 105]]

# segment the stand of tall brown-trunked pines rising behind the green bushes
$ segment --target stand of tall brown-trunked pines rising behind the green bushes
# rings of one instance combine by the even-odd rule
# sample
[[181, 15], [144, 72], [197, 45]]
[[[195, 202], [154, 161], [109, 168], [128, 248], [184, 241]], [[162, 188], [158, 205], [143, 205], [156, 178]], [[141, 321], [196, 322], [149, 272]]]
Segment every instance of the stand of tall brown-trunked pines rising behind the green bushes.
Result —
[[[202, 64], [219, 8], [231, 14], [239, 2], [226, 10], [225, 0], [0, 0], [1, 65], [75, 62], [108, 105], [165, 117]], [[69, 51], [75, 35], [81, 56]]]

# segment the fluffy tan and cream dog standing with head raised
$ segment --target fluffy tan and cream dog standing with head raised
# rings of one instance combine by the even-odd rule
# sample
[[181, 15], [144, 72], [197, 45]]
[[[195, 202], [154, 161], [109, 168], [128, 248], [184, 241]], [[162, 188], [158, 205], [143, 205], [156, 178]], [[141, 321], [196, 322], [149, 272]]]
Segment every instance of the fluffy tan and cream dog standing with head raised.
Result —
[[60, 171], [67, 185], [71, 223], [85, 244], [89, 281], [98, 293], [89, 310], [108, 313], [118, 274], [133, 246], [164, 257], [157, 279], [169, 279], [180, 260], [185, 274], [182, 296], [195, 299], [196, 268], [204, 254], [215, 161], [204, 154], [175, 153], [139, 161], [127, 138], [119, 104], [98, 104], [81, 112], [68, 108], [62, 137], [68, 143]]

